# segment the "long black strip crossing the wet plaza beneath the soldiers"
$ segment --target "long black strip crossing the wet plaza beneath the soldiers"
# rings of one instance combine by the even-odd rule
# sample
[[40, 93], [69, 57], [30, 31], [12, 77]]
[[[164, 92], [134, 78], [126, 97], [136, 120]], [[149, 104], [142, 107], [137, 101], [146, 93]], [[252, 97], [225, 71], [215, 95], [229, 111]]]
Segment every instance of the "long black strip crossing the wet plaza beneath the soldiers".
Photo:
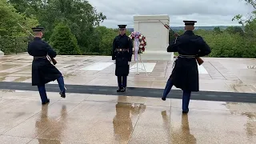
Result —
[[[125, 93], [117, 93], [116, 86], [87, 86], [87, 85], [66, 85], [67, 93], [80, 94], [107, 94], [107, 95], [129, 95], [151, 98], [161, 98], [163, 89], [128, 87]], [[0, 89], [5, 90], [32, 90], [38, 91], [37, 86], [24, 82], [0, 82]], [[47, 84], [49, 92], [59, 92], [57, 84]], [[182, 98], [182, 90], [171, 90], [168, 98]], [[256, 94], [233, 93], [217, 91], [199, 91], [192, 93], [191, 99], [222, 102], [251, 102], [256, 103]]]

